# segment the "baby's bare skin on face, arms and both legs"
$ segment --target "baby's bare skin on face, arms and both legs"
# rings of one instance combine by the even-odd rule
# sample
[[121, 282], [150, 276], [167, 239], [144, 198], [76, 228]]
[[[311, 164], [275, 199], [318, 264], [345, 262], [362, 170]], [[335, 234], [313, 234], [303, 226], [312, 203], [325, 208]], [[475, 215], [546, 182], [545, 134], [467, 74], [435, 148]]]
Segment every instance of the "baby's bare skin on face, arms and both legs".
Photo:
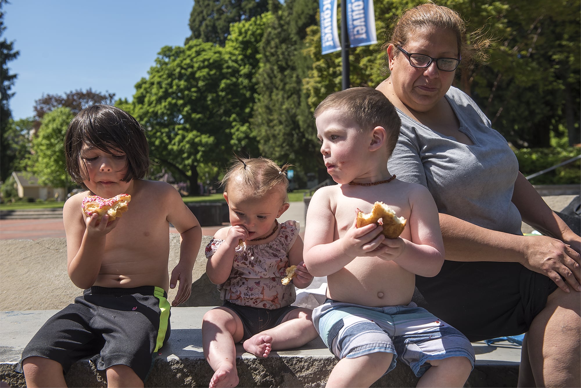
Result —
[[[245, 245], [266, 244], [277, 238], [280, 226], [276, 219], [288, 207], [283, 187], [273, 188], [263, 196], [254, 196], [254, 190], [243, 188], [242, 182], [230, 182], [224, 198], [229, 207], [231, 227], [218, 230], [214, 239], [223, 239], [216, 253], [208, 260], [206, 274], [211, 282], [220, 284], [230, 275], [236, 247], [242, 240]], [[274, 233], [272, 233], [274, 231]], [[272, 234], [271, 234], [272, 233]], [[293, 285], [307, 287], [313, 280], [303, 263], [303, 240], [299, 237], [288, 252], [289, 265], [297, 265]], [[234, 387], [238, 385], [236, 369], [236, 343], [243, 338], [242, 321], [234, 311], [218, 307], [204, 315], [202, 342], [206, 360], [214, 375], [210, 387]], [[289, 311], [283, 322], [246, 339], [243, 348], [256, 357], [268, 357], [271, 350], [292, 349], [313, 340], [317, 332], [311, 321], [311, 311], [297, 308]]]

